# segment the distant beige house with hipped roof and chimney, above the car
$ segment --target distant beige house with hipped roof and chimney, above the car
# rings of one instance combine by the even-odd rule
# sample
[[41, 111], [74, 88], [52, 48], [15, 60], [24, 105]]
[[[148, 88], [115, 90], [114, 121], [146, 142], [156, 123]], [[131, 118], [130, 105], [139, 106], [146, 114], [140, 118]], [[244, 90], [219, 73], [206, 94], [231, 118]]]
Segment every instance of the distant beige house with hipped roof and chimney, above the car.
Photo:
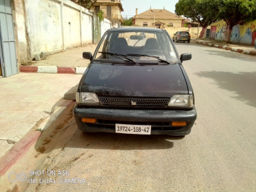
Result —
[[138, 14], [138, 9], [136, 8], [133, 24], [134, 26], [148, 26], [163, 29], [166, 27], [183, 27], [184, 20], [183, 17], [175, 15], [165, 9], [156, 10], [150, 8]]

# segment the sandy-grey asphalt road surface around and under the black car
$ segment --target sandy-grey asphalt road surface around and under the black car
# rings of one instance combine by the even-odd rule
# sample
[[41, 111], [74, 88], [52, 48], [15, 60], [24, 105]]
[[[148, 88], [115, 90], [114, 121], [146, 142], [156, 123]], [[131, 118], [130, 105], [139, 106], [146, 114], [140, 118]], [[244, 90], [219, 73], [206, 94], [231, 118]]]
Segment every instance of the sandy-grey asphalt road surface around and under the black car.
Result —
[[28, 191], [256, 191], [255, 56], [176, 45], [192, 53], [183, 63], [198, 113], [191, 134], [82, 134], [70, 107], [36, 143], [50, 172]]

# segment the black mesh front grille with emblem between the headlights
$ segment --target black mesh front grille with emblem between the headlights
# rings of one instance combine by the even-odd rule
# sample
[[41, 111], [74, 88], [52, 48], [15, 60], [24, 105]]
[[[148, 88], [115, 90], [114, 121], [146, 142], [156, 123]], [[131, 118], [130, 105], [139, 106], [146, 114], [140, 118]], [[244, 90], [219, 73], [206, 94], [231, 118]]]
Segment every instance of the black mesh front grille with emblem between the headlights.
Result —
[[169, 98], [99, 97], [100, 105], [115, 108], [167, 108]]

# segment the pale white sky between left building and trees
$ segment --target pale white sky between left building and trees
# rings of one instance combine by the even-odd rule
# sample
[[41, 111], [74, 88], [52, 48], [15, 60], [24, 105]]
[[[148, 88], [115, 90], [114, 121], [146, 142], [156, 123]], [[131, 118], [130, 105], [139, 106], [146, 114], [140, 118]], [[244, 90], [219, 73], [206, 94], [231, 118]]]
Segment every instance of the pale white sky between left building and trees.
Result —
[[125, 18], [133, 17], [138, 8], [138, 14], [150, 9], [163, 9], [165, 7], [169, 12], [175, 13], [175, 4], [179, 0], [121, 0], [124, 8], [122, 16]]

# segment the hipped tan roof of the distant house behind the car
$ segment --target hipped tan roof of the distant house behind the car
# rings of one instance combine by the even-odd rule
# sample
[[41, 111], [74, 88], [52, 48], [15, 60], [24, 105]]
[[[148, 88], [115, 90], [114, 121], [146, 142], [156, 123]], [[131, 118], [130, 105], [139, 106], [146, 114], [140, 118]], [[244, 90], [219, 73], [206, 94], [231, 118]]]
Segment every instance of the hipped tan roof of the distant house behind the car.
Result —
[[143, 13], [138, 14], [134, 19], [185, 19], [167, 10], [149, 9]]

